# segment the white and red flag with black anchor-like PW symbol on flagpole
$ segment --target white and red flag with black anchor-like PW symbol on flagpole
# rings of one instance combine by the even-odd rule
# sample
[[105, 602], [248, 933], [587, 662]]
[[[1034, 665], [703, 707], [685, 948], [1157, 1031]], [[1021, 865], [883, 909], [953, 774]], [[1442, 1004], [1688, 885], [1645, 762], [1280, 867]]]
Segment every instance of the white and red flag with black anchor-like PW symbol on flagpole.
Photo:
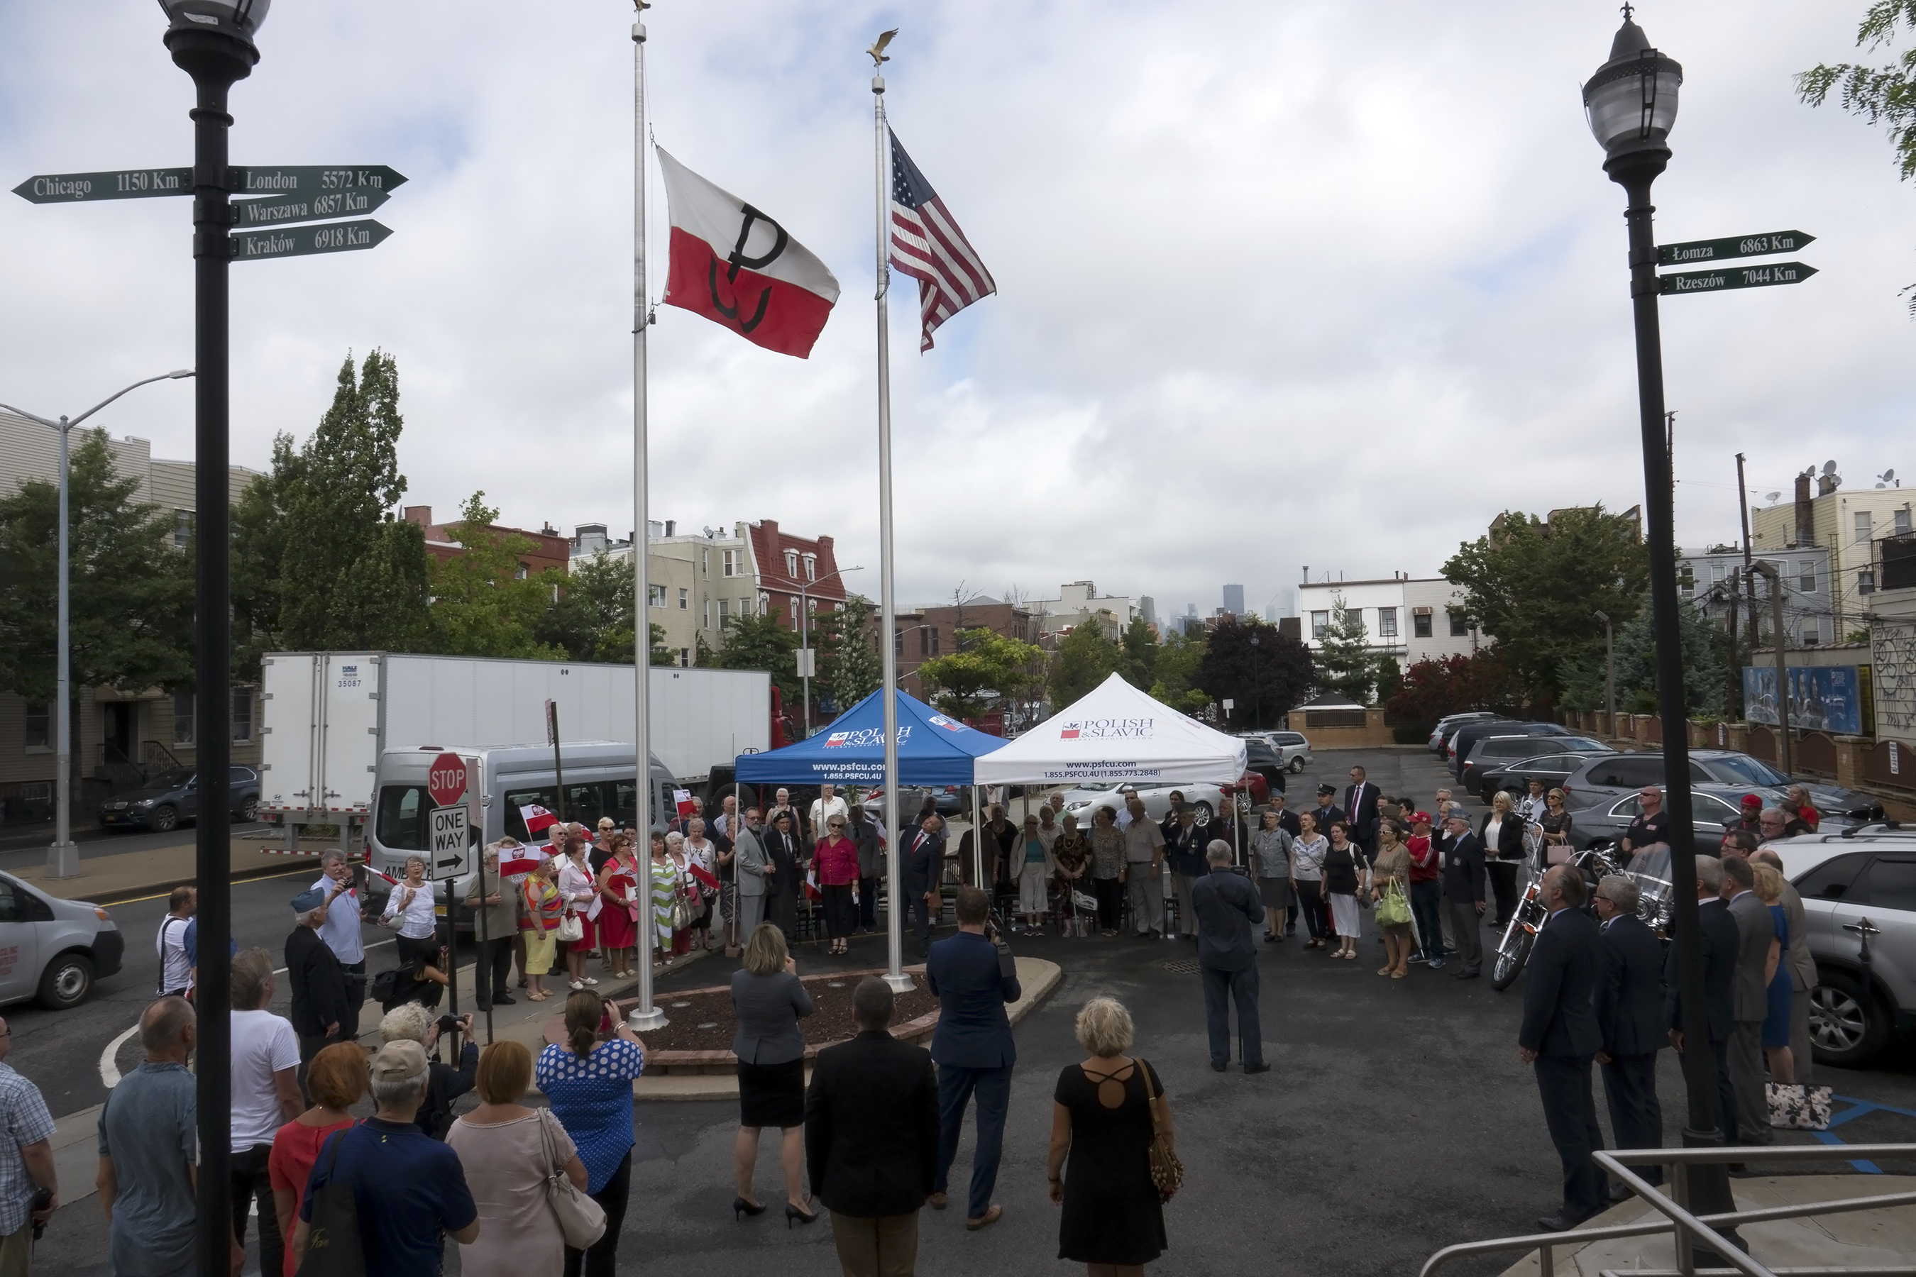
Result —
[[665, 302], [807, 358], [837, 302], [837, 280], [768, 214], [655, 149], [673, 222]]

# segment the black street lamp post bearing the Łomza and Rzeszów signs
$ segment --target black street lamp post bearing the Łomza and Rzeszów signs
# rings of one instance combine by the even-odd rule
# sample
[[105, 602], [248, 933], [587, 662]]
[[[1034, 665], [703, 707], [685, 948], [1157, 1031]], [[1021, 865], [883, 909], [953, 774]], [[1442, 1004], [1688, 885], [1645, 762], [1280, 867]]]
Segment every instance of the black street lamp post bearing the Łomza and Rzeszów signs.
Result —
[[[1669, 812], [1671, 890], [1675, 894], [1676, 973], [1682, 988], [1682, 1072], [1690, 1101], [1684, 1147], [1719, 1147], [1717, 1061], [1703, 1009], [1703, 942], [1696, 898], [1696, 825], [1690, 808], [1690, 739], [1684, 708], [1682, 634], [1676, 601], [1675, 494], [1663, 438], [1663, 341], [1657, 327], [1655, 207], [1650, 184], [1669, 165], [1669, 130], [1676, 123], [1682, 67], [1650, 46], [1623, 8], [1623, 27], [1609, 61], [1583, 86], [1590, 132], [1606, 151], [1604, 172], [1629, 193], [1631, 308], [1636, 320], [1636, 404], [1644, 448], [1644, 515], [1650, 534], [1650, 607], [1657, 647], [1657, 710], [1663, 720], [1663, 810]], [[1688, 1210], [1736, 1210], [1724, 1166], [1688, 1172]], [[1701, 1250], [1698, 1252], [1703, 1254]]]

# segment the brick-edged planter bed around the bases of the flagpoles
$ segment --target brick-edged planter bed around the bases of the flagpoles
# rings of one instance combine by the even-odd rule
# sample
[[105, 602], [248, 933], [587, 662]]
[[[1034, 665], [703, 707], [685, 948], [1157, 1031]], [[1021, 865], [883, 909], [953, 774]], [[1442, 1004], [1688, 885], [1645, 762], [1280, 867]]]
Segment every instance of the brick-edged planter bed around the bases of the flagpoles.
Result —
[[[801, 976], [816, 1007], [812, 1015], [799, 1020], [799, 1030], [809, 1040], [805, 1047], [807, 1061], [822, 1047], [845, 1042], [856, 1032], [851, 1015], [853, 990], [864, 976], [881, 975], [885, 975], [883, 967]], [[680, 1001], [690, 1005], [674, 1005]], [[669, 1024], [661, 1030], [642, 1034], [646, 1040], [648, 1078], [659, 1074], [738, 1074], [738, 1057], [730, 1051], [736, 1020], [732, 1017], [732, 988], [728, 984], [663, 994], [653, 999], [653, 1005], [665, 1013]], [[711, 1028], [701, 1028], [703, 1024], [711, 1024]], [[891, 1036], [929, 1045], [931, 1030], [937, 1024], [939, 999], [931, 996], [931, 990], [924, 986], [924, 978], [920, 976], [918, 988], [899, 994]], [[559, 1042], [563, 1036], [559, 1020], [546, 1024], [548, 1042]]]

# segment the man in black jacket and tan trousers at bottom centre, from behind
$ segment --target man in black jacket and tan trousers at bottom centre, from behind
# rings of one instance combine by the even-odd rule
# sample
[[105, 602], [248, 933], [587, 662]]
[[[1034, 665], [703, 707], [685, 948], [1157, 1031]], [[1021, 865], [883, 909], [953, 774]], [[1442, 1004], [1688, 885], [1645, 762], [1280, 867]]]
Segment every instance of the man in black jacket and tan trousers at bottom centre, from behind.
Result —
[[858, 980], [851, 1007], [858, 1036], [818, 1053], [805, 1091], [812, 1197], [847, 1277], [910, 1273], [939, 1170], [939, 1078], [929, 1051], [891, 1036], [889, 984]]

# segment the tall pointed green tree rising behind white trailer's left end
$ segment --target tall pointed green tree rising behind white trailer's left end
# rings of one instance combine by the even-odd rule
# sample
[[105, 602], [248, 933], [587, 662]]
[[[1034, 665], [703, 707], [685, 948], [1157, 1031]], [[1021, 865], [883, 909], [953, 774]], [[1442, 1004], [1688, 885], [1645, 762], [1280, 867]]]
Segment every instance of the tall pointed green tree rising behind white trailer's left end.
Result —
[[[339, 366], [333, 404], [297, 461], [291, 440], [274, 442], [268, 486], [238, 521], [249, 651], [266, 641], [420, 651], [429, 641], [425, 536], [395, 517], [406, 492], [402, 429], [399, 364], [374, 350], [358, 375], [351, 356]], [[276, 615], [261, 588], [272, 578]]]

